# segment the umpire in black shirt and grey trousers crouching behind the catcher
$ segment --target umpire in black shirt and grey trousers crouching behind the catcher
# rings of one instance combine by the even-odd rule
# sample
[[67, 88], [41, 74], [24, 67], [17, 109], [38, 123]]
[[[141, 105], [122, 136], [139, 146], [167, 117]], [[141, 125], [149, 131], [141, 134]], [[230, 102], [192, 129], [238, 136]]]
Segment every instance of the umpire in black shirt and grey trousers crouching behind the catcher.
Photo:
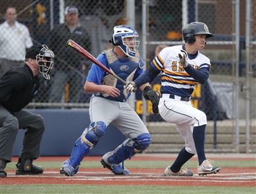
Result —
[[45, 130], [43, 118], [23, 108], [32, 101], [39, 88], [38, 74], [47, 80], [54, 54], [46, 45], [32, 46], [26, 51], [24, 66], [13, 68], [0, 79], [0, 177], [12, 160], [13, 144], [18, 129], [26, 130], [23, 147], [16, 164], [16, 175], [42, 174], [43, 168], [32, 164], [39, 157], [41, 138]]

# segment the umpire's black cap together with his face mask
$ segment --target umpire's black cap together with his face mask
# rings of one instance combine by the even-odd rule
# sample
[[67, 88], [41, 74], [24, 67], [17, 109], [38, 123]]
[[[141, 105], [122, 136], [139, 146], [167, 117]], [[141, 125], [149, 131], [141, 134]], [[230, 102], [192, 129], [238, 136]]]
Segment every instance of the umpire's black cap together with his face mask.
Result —
[[51, 68], [53, 68], [54, 54], [47, 45], [32, 46], [26, 51], [26, 59], [36, 59], [39, 66], [39, 72], [43, 77], [50, 80]]

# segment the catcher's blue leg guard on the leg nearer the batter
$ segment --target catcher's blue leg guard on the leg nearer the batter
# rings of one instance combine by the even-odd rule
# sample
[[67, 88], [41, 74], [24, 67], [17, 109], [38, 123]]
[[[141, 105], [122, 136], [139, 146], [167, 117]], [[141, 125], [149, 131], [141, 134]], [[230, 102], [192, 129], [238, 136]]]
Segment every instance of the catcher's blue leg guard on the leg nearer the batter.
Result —
[[[119, 145], [115, 149], [115, 151], [106, 153], [103, 156], [103, 160], [110, 166], [113, 166], [114, 168], [116, 164], [118, 165], [122, 162], [122, 168], [125, 168], [123, 163], [124, 160], [126, 160], [127, 158], [130, 159], [136, 153], [139, 153], [140, 151], [147, 149], [150, 143], [151, 135], [149, 133], [143, 133], [139, 135], [136, 139], [126, 139], [126, 141], [124, 141], [122, 145]], [[114, 168], [113, 172], [115, 170]]]

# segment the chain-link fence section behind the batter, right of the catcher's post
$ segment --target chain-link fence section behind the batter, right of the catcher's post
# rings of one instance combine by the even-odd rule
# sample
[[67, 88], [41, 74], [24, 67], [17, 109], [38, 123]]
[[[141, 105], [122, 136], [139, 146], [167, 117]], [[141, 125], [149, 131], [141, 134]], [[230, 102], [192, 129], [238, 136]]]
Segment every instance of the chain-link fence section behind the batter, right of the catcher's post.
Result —
[[[197, 85], [192, 95], [193, 107], [207, 114], [208, 151], [255, 152], [255, 9], [255, 1], [149, 1], [147, 64], [164, 47], [183, 43], [187, 22], [204, 22], [215, 34], [200, 51], [211, 59], [210, 78]], [[159, 89], [160, 83], [154, 80], [151, 84]], [[157, 116], [148, 120], [157, 122], [147, 122], [153, 139], [147, 151], [182, 148], [174, 125]]]

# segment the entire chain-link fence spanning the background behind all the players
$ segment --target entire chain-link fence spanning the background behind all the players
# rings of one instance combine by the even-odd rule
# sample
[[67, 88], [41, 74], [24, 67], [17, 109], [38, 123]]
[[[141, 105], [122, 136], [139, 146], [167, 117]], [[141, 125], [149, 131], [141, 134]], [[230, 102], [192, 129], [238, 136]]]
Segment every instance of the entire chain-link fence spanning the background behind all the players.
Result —
[[[239, 10], [236, 10], [237, 3]], [[76, 22], [76, 18], [66, 18], [64, 14], [65, 8], [71, 5], [78, 8], [79, 29], [64, 26], [67, 20]], [[66, 41], [74, 39], [97, 57], [105, 48], [112, 47], [109, 39], [113, 27], [130, 22], [127, 6], [128, 0], [1, 1], [1, 23], [5, 22], [7, 8], [16, 7], [17, 20], [28, 27], [34, 45], [46, 44], [55, 53], [51, 80], [40, 79], [41, 87], [28, 108], [88, 108], [91, 93], [86, 93], [83, 87], [91, 62], [67, 47]], [[143, 7], [146, 7], [145, 12]], [[182, 29], [188, 22], [198, 20], [207, 24], [215, 37], [207, 41], [201, 53], [211, 59], [211, 74], [207, 84], [197, 85], [192, 97], [193, 106], [203, 110], [209, 120], [206, 149], [237, 151], [236, 128], [239, 125], [240, 151], [255, 152], [256, 1], [140, 0], [134, 1], [133, 9], [134, 27], [141, 41], [139, 51], [142, 56], [145, 52], [143, 60], [147, 66], [164, 47], [183, 43]], [[238, 15], [240, 34], [237, 40]], [[145, 23], [146, 32], [143, 32]], [[17, 31], [18, 39], [9, 32], [5, 36], [1, 34], [1, 56], [7, 53], [11, 57], [9, 60], [20, 61], [15, 58], [20, 54], [15, 47], [26, 47], [20, 41], [23, 31]], [[7, 44], [3, 50], [3, 37], [8, 39], [9, 45], [15, 46]], [[146, 42], [142, 41], [143, 37]], [[237, 42], [240, 43], [239, 48], [236, 47]], [[159, 90], [161, 81], [155, 79], [151, 84], [153, 89]], [[150, 105], [147, 105], [147, 112], [143, 112], [141, 93], [136, 93], [134, 103], [136, 112], [141, 116], [146, 115], [147, 126], [153, 137], [148, 151], [176, 151], [183, 146], [175, 126], [163, 122], [161, 116], [152, 114]], [[237, 107], [239, 112], [236, 112]], [[248, 114], [249, 126], [246, 122]], [[248, 141], [249, 149], [246, 147]]]

